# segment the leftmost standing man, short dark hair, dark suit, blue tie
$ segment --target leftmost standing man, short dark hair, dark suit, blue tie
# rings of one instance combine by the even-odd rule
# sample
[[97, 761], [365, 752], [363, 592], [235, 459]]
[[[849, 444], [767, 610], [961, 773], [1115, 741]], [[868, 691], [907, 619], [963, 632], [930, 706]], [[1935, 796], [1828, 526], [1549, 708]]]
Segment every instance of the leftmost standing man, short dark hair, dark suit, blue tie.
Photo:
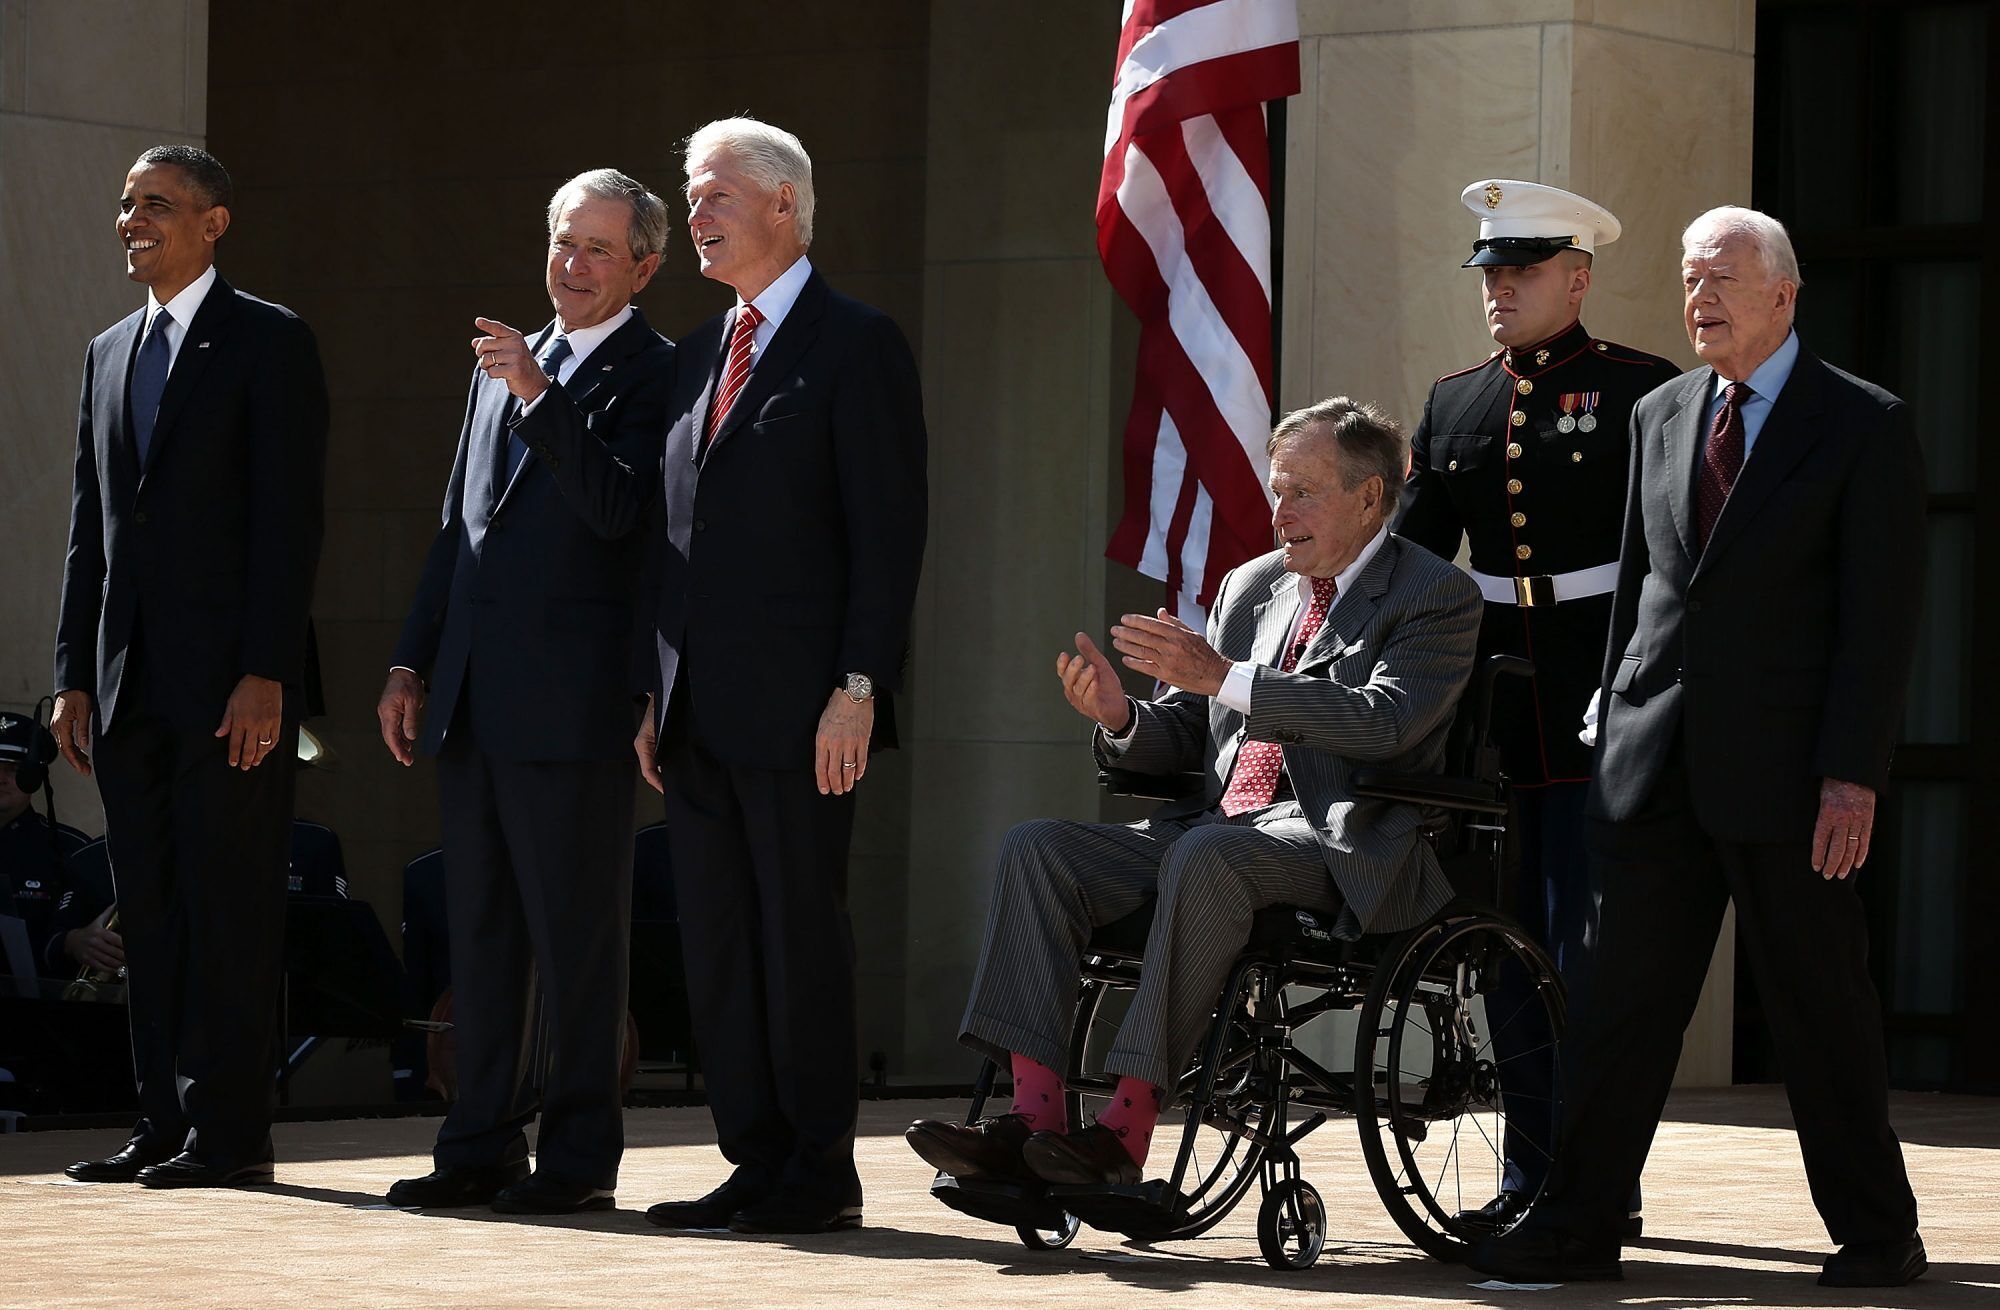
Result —
[[84, 356], [50, 728], [104, 796], [144, 1112], [68, 1168], [92, 1182], [272, 1178], [326, 380], [306, 324], [216, 274], [228, 204], [206, 150], [140, 154], [118, 238], [146, 308]]

